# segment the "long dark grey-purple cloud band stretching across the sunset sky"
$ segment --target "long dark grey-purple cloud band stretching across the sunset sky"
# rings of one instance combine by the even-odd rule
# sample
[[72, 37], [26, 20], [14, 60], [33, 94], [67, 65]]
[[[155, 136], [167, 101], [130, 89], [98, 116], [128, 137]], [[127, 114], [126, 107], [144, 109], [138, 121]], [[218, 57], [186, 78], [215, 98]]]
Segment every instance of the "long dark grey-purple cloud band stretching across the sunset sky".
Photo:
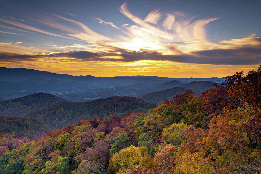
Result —
[[[215, 65], [256, 65], [261, 63], [260, 48], [236, 48], [194, 51], [191, 54], [162, 55], [160, 52], [151, 50], [131, 51], [112, 47], [109, 52], [68, 51], [53, 54], [19, 55], [0, 54], [2, 61], [32, 61], [42, 57], [69, 57], [72, 61], [114, 61], [134, 62], [139, 60], [174, 61], [193, 64]], [[118, 54], [120, 52], [121, 54]], [[121, 57], [119, 59], [119, 56]], [[106, 58], [107, 57], [107, 58]], [[113, 58], [115, 57], [115, 58]]]

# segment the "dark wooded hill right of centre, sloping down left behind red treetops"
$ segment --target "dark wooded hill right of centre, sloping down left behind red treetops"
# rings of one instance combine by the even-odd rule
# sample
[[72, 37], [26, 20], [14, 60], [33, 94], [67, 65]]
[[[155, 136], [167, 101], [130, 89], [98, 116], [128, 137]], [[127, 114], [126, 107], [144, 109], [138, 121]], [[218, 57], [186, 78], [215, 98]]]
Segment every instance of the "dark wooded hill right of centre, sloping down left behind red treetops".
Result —
[[171, 89], [148, 93], [139, 98], [143, 99], [146, 102], [163, 104], [164, 100], [172, 99], [175, 95], [183, 94], [186, 90], [187, 90], [186, 88], [174, 87]]

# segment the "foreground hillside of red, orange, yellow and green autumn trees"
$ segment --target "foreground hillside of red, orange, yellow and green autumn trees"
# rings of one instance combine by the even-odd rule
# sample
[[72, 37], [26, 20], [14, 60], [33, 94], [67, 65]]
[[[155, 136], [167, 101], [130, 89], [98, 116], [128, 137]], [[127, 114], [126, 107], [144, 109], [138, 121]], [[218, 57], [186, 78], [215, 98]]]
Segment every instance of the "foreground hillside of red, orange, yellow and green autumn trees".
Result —
[[[30, 142], [12, 137], [20, 142], [0, 147], [0, 173], [259, 174], [260, 91], [261, 65], [245, 77], [243, 72], [226, 77], [202, 97], [187, 90], [146, 113], [84, 118]], [[102, 108], [99, 102], [118, 107], [122, 100], [143, 102], [113, 97], [107, 103], [96, 100], [92, 108]], [[52, 107], [66, 118], [72, 107], [63, 103]], [[91, 106], [81, 102], [73, 107], [84, 112]], [[42, 111], [48, 113], [48, 108]], [[40, 118], [37, 112], [32, 117]], [[46, 113], [40, 119], [52, 115]]]

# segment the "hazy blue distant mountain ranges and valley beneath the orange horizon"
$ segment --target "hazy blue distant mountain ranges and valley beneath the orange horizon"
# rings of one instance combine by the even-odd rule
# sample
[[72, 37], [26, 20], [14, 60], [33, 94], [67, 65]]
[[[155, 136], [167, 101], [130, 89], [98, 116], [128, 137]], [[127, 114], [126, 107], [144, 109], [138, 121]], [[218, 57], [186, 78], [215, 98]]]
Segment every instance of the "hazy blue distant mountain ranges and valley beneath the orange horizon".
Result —
[[[0, 101], [39, 92], [50, 93], [75, 102], [111, 96], [141, 97], [147, 93], [177, 86], [200, 92], [209, 89], [213, 83], [222, 83], [224, 79], [225, 77], [197, 79], [157, 76], [73, 76], [26, 68], [0, 67]], [[195, 83], [200, 81], [208, 82]]]

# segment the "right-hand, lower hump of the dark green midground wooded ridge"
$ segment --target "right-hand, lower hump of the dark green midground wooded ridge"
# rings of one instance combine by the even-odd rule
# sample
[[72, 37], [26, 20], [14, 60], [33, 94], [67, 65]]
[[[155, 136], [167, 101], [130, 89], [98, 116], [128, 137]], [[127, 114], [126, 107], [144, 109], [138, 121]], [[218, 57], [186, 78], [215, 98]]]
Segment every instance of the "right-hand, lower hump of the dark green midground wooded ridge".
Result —
[[88, 117], [109, 117], [110, 115], [123, 115], [126, 111], [147, 112], [157, 104], [148, 103], [135, 97], [109, 97], [88, 102], [57, 102], [48, 107], [41, 108], [25, 115], [38, 118], [46, 124], [62, 128], [67, 124], [75, 124], [78, 120]]

